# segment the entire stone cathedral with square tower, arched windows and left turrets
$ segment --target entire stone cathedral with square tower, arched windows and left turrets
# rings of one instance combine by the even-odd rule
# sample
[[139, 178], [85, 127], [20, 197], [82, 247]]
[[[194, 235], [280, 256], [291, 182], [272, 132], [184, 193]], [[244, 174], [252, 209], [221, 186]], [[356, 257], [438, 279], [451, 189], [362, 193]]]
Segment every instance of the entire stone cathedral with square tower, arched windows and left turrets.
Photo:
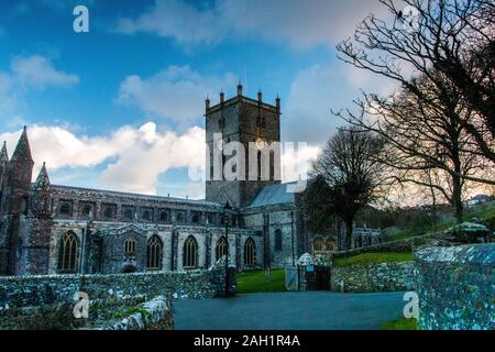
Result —
[[[241, 85], [216, 106], [207, 99], [205, 117], [210, 151], [215, 133], [246, 147], [280, 140], [279, 99], [244, 97]], [[6, 144], [0, 155], [0, 275], [208, 268], [227, 252], [240, 270], [279, 267], [305, 252], [332, 251], [333, 235], [305, 231], [296, 194], [276, 180], [279, 163], [273, 153], [264, 180], [207, 180], [205, 200], [53, 185], [46, 165], [32, 183], [24, 128], [12, 156]]]

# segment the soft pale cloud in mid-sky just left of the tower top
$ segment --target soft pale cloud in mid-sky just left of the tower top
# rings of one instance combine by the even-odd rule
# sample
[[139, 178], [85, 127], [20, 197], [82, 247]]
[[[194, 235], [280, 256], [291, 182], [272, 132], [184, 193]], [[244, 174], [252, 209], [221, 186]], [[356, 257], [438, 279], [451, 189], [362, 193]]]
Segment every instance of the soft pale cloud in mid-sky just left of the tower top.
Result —
[[189, 66], [169, 66], [148, 78], [127, 77], [118, 102], [138, 106], [152, 117], [175, 121], [197, 119], [205, 112], [205, 98], [222, 87], [234, 87], [235, 77], [202, 76]]

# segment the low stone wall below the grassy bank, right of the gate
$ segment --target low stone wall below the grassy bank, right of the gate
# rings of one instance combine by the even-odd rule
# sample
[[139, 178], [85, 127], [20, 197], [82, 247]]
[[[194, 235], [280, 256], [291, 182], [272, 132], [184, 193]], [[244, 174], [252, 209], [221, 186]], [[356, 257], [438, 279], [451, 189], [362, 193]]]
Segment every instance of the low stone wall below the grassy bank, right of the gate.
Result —
[[415, 289], [415, 263], [333, 266], [330, 289], [338, 292], [393, 292]]

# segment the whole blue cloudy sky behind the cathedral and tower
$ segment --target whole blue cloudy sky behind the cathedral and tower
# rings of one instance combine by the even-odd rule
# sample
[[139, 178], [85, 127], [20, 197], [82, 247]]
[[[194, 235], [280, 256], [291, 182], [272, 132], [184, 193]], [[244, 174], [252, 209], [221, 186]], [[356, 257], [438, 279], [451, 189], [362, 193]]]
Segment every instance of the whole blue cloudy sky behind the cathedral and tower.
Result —
[[[89, 9], [90, 32], [73, 31]], [[282, 139], [317, 155], [352, 106], [377, 88], [336, 58], [375, 0], [0, 1], [0, 140], [22, 127], [55, 184], [204, 197], [204, 107], [223, 89], [282, 98]], [[383, 89], [383, 87], [378, 87]], [[290, 163], [290, 155], [284, 161]], [[289, 178], [287, 176], [287, 178]]]

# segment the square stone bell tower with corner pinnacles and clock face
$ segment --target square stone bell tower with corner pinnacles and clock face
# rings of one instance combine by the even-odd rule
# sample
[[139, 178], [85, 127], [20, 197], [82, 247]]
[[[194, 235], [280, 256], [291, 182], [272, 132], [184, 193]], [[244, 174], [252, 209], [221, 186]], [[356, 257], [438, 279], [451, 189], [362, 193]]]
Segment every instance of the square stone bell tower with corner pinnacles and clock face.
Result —
[[[263, 102], [261, 91], [257, 99], [251, 99], [243, 96], [242, 85], [239, 84], [233, 98], [226, 100], [221, 92], [216, 106], [210, 106], [210, 99], [207, 99], [205, 117], [209, 152], [206, 155], [207, 200], [245, 207], [263, 186], [280, 183], [278, 97], [275, 105]], [[219, 135], [221, 140], [216, 138]], [[244, 165], [234, 162], [240, 146], [244, 151]], [[226, 172], [231, 176], [227, 176]]]

